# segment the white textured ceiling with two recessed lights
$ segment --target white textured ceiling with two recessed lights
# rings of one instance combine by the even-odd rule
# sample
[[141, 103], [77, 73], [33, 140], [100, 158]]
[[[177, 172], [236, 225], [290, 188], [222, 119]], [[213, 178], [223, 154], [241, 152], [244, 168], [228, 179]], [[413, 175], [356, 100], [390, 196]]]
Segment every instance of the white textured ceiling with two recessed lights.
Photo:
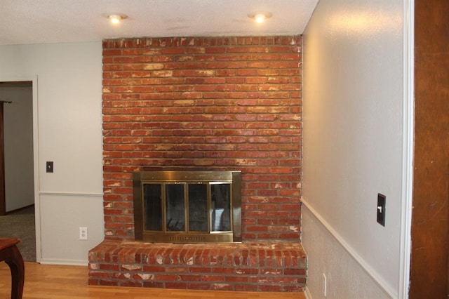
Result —
[[[318, 0], [0, 0], [0, 45], [302, 34]], [[263, 24], [248, 14], [272, 13]], [[110, 25], [104, 15], [128, 18]]]

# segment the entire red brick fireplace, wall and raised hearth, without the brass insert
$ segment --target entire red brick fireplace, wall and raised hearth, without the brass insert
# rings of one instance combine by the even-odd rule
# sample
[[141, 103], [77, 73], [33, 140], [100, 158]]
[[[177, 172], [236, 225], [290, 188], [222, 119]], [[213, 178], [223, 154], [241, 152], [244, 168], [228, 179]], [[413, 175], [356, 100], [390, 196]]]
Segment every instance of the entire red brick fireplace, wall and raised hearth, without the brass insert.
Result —
[[[105, 241], [89, 284], [301, 291], [300, 36], [103, 41]], [[134, 240], [133, 172], [241, 171], [238, 244]]]

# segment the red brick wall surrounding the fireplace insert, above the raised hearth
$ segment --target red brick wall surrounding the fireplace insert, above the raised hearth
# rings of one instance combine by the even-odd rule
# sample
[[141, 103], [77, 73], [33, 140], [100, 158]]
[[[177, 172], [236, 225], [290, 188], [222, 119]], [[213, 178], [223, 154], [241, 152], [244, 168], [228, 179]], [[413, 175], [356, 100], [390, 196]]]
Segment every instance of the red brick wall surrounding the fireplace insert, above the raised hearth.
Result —
[[243, 241], [299, 241], [300, 44], [103, 41], [105, 239], [134, 239], [133, 171], [183, 169], [241, 170]]

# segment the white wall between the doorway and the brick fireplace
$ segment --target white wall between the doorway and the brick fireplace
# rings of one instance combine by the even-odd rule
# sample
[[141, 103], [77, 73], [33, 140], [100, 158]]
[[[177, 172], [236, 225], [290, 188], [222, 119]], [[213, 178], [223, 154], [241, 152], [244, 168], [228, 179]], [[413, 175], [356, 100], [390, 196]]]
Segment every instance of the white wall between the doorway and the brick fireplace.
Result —
[[[37, 78], [41, 262], [87, 263], [104, 236], [101, 42], [0, 46], [0, 65], [0, 81]], [[89, 239], [80, 241], [86, 226]]]

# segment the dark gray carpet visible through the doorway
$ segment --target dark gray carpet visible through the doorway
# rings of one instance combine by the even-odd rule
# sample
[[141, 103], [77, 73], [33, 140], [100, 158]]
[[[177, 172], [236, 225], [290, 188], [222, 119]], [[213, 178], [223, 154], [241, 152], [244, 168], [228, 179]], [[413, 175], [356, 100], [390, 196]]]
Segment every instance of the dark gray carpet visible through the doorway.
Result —
[[34, 206], [0, 216], [0, 238], [20, 239], [17, 245], [25, 262], [36, 262], [36, 230]]

